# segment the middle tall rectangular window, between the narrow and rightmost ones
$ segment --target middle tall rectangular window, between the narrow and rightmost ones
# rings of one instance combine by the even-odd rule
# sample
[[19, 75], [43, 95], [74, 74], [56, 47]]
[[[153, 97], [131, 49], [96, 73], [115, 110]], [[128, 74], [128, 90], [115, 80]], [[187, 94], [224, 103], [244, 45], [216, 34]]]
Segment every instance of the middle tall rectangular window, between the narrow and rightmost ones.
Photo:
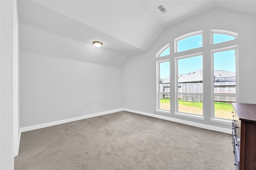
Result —
[[176, 58], [177, 111], [203, 115], [202, 53]]

